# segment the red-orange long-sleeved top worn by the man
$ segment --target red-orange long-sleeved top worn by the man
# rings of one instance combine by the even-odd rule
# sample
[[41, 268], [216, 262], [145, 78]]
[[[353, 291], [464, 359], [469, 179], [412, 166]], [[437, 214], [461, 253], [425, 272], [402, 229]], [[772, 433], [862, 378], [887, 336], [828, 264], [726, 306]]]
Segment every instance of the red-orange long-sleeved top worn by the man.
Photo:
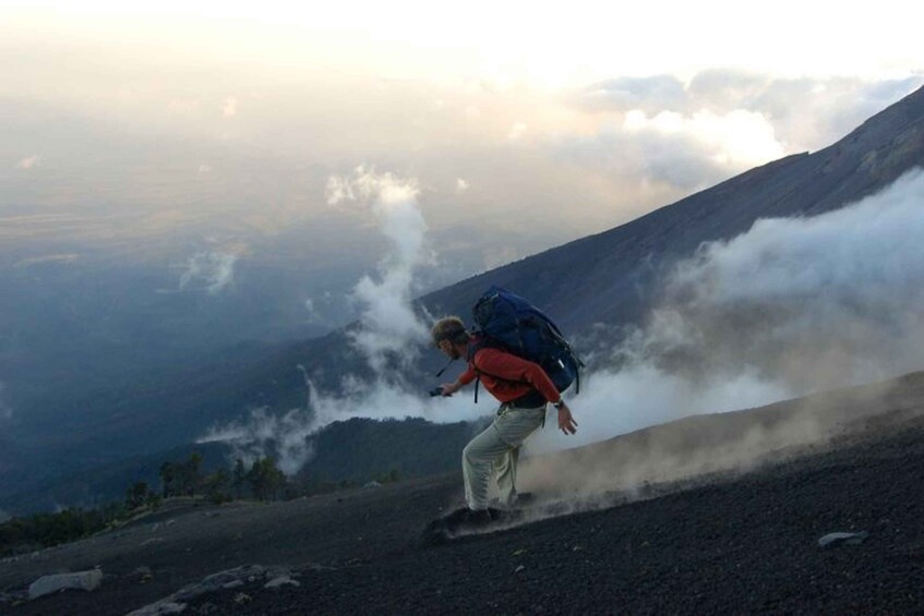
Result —
[[501, 349], [489, 347], [475, 352], [459, 383], [468, 385], [476, 377], [481, 377], [484, 388], [501, 402], [511, 402], [533, 389], [549, 402], [562, 399], [542, 366]]

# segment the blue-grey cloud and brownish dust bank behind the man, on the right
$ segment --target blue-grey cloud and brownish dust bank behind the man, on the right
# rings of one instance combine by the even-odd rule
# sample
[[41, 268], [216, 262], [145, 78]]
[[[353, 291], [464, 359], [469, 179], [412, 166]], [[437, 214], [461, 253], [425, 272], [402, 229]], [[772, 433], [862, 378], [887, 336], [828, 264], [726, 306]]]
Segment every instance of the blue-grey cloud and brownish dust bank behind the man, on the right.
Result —
[[924, 172], [814, 218], [704, 244], [575, 398], [576, 439], [752, 408], [924, 367]]

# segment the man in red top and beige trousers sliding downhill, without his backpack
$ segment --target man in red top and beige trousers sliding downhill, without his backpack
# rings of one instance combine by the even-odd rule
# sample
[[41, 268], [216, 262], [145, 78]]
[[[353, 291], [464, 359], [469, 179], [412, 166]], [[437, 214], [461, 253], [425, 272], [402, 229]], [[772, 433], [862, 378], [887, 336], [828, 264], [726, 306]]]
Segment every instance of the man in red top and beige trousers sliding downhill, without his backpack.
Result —
[[516, 467], [523, 442], [545, 423], [545, 404], [557, 410], [559, 430], [577, 432], [577, 422], [555, 385], [539, 364], [501, 349], [481, 346], [457, 316], [441, 318], [431, 331], [433, 343], [448, 358], [466, 358], [468, 370], [455, 383], [442, 385], [442, 395], [452, 396], [477, 377], [500, 402], [497, 416], [463, 450], [463, 475], [469, 523], [489, 522], [500, 512], [489, 507], [489, 484], [496, 480], [502, 508], [517, 500]]

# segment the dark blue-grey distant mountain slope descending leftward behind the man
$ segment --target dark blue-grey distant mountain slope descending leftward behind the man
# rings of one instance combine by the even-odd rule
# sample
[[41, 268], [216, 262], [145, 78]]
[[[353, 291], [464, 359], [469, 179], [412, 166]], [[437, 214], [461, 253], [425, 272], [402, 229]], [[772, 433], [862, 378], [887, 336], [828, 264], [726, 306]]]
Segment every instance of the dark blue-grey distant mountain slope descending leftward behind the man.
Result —
[[[924, 88], [815, 154], [765, 165], [610, 231], [472, 277], [419, 302], [434, 315], [467, 317], [483, 289], [496, 283], [529, 297], [572, 335], [596, 323], [637, 323], [658, 297], [659, 276], [703, 242], [730, 239], [759, 218], [812, 216], [842, 207], [921, 165]], [[436, 353], [425, 354], [416, 372], [405, 376], [429, 384], [423, 375], [439, 363]], [[105, 403], [103, 398], [76, 401], [79, 428], [43, 435], [23, 448], [26, 459], [0, 459], [0, 507], [11, 483], [25, 490], [33, 478], [55, 475], [60, 470], [58, 459], [81, 470], [128, 452], [188, 443], [214, 423], [252, 408], [303, 408], [299, 365], [326, 390], [336, 390], [345, 375], [369, 376], [365, 361], [344, 329], [242, 355], [221, 370], [203, 369], [181, 383], [157, 384], [141, 395], [124, 388], [108, 392]], [[396, 369], [395, 375], [401, 374]], [[49, 412], [77, 416], [72, 408]]]

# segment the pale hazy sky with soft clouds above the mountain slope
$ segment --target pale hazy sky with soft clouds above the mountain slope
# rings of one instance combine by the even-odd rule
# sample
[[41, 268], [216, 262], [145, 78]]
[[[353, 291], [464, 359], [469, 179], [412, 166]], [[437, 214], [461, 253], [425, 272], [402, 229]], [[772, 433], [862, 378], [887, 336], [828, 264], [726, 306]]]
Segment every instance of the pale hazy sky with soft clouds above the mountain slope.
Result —
[[0, 242], [372, 251], [368, 209], [325, 198], [363, 165], [416, 182], [437, 256], [491, 267], [824, 147], [924, 83], [913, 3], [598, 4], [0, 2]]

